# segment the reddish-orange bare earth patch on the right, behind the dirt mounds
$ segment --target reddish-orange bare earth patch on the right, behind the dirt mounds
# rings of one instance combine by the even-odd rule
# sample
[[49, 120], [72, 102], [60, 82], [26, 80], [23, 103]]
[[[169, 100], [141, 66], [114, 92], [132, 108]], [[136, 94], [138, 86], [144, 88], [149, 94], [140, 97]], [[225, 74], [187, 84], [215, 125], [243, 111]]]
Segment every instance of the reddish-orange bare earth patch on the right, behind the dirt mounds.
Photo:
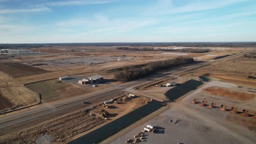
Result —
[[209, 92], [212, 95], [219, 95], [222, 97], [229, 97], [237, 100], [250, 100], [256, 96], [256, 94], [253, 93], [230, 91], [229, 89], [220, 87], [207, 87], [203, 90]]

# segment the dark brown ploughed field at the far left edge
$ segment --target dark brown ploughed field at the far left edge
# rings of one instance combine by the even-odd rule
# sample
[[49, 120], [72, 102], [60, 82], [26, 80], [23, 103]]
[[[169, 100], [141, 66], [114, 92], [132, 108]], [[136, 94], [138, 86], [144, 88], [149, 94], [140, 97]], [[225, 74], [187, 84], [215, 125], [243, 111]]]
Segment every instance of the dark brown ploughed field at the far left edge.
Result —
[[0, 70], [13, 78], [49, 73], [50, 71], [22, 63], [0, 63]]

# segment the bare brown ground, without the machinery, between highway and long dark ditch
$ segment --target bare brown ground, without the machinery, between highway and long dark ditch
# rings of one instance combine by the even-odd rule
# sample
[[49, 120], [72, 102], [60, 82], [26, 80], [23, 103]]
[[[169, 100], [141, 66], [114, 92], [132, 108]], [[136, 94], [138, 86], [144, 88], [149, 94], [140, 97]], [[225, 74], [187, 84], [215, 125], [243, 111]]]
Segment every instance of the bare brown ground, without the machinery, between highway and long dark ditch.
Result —
[[[125, 95], [124, 95], [125, 96]], [[119, 104], [108, 104], [108, 109], [102, 105], [95, 106], [89, 113], [94, 113], [95, 116], [89, 115], [89, 113], [76, 112], [72, 115], [68, 115], [48, 123], [38, 125], [25, 131], [21, 131], [15, 134], [9, 134], [8, 136], [0, 137], [0, 143], [35, 143], [40, 137], [48, 134], [53, 138], [53, 142], [64, 142], [71, 139], [75, 135], [82, 134], [89, 129], [96, 127], [99, 124], [106, 124], [114, 119], [124, 116], [138, 107], [141, 107], [146, 103], [143, 102], [143, 98], [136, 97]], [[89, 108], [88, 106], [86, 108]], [[108, 112], [106, 121], [104, 117], [100, 116], [102, 112]], [[54, 117], [54, 116], [53, 116]], [[86, 133], [86, 132], [85, 132]]]

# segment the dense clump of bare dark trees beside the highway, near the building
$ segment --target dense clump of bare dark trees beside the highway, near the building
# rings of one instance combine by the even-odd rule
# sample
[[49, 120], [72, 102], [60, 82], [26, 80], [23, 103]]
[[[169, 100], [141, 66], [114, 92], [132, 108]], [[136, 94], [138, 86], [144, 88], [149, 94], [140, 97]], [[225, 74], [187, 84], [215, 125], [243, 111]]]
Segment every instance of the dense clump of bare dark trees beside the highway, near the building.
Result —
[[190, 57], [177, 57], [165, 61], [148, 63], [144, 67], [123, 67], [122, 71], [114, 74], [114, 79], [118, 81], [130, 81], [139, 77], [153, 74], [157, 70], [171, 68], [175, 65], [193, 63], [194, 59]]

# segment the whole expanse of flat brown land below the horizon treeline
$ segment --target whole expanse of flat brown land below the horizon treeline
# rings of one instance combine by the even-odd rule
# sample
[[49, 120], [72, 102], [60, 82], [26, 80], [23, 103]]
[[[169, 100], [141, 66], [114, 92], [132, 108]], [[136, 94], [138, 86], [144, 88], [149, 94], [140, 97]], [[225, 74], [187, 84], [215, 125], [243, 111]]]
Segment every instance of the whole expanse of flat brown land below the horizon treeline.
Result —
[[[28, 50], [37, 54], [1, 55], [0, 143], [256, 141], [252, 47]], [[115, 79], [181, 57], [193, 62], [182, 59], [138, 79]]]

